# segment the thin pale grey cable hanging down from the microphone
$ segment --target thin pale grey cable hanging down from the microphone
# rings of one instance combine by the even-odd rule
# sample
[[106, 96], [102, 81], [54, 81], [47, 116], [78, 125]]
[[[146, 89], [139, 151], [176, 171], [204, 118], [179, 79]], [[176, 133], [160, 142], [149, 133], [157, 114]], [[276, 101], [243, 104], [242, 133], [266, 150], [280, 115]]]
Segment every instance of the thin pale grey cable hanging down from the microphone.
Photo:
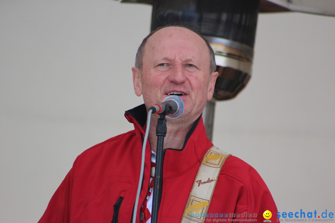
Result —
[[141, 193], [141, 186], [142, 186], [143, 173], [144, 173], [145, 146], [146, 146], [146, 142], [147, 142], [147, 140], [148, 140], [148, 134], [149, 134], [149, 128], [150, 128], [151, 113], [152, 113], [152, 110], [150, 109], [149, 112], [148, 112], [148, 117], [147, 117], [147, 127], [146, 127], [146, 129], [145, 129], [145, 135], [144, 135], [143, 146], [142, 146], [142, 161], [141, 161], [140, 180], [139, 180], [139, 182], [138, 182], [138, 188], [137, 188], [137, 194], [136, 194], [135, 206], [134, 206], [134, 211], [133, 211], [133, 223], [136, 223], [137, 206], [138, 206], [138, 200], [140, 199], [140, 193]]

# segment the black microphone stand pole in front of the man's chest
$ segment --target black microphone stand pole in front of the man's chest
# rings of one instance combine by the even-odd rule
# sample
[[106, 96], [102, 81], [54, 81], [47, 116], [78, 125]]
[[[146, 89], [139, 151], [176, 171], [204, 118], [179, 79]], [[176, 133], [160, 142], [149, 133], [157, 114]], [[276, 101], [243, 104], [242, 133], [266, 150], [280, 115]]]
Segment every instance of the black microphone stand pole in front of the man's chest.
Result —
[[160, 114], [157, 121], [156, 135], [157, 135], [157, 150], [156, 150], [156, 165], [155, 165], [155, 178], [153, 185], [153, 202], [151, 211], [151, 223], [157, 223], [158, 209], [160, 204], [160, 193], [162, 189], [162, 162], [163, 162], [163, 144], [166, 135], [166, 119], [165, 115]]

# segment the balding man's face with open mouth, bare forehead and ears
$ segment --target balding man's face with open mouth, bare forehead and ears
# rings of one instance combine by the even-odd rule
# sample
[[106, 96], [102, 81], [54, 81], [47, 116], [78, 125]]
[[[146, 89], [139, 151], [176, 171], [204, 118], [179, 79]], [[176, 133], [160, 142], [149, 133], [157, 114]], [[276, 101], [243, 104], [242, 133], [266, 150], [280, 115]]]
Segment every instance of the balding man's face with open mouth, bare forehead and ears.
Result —
[[209, 50], [196, 33], [181, 27], [158, 30], [144, 47], [142, 72], [132, 68], [134, 89], [147, 108], [169, 95], [184, 102], [180, 119], [195, 120], [213, 95], [217, 72], [210, 73]]

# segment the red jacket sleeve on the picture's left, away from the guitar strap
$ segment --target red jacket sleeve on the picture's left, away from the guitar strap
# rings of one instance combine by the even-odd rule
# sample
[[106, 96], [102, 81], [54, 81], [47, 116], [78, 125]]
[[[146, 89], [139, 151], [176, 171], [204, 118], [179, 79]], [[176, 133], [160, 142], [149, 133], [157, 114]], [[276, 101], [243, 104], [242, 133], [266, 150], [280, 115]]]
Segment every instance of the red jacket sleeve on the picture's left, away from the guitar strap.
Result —
[[70, 221], [69, 213], [74, 166], [75, 162], [72, 169], [52, 196], [46, 211], [38, 223], [68, 223]]

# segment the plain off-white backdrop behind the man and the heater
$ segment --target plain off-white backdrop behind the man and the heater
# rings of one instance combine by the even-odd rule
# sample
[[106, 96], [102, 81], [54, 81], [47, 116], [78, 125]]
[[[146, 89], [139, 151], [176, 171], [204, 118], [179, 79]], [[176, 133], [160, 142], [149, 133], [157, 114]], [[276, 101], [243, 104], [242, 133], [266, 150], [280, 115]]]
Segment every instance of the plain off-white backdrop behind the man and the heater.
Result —
[[[151, 6], [0, 0], [0, 222], [37, 222], [76, 156], [132, 125]], [[278, 211], [335, 212], [335, 18], [261, 14], [252, 79], [213, 142], [254, 166]]]

